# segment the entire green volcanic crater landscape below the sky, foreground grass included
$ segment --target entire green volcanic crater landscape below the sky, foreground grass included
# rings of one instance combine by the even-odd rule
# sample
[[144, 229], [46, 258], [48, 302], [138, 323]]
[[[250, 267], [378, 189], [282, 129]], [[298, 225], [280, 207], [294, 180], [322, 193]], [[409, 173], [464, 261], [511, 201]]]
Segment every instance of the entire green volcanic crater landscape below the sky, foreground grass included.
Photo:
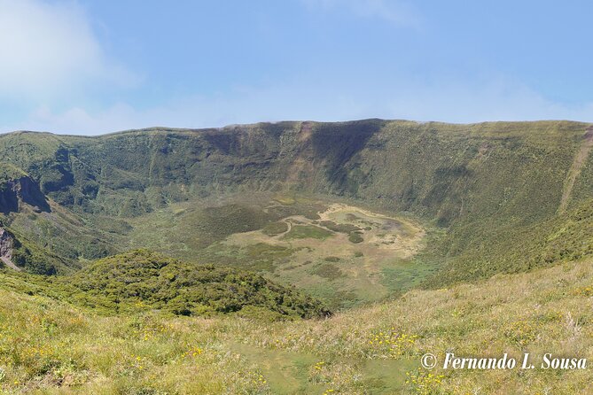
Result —
[[418, 360], [593, 352], [587, 128], [0, 136], [0, 392], [578, 393]]

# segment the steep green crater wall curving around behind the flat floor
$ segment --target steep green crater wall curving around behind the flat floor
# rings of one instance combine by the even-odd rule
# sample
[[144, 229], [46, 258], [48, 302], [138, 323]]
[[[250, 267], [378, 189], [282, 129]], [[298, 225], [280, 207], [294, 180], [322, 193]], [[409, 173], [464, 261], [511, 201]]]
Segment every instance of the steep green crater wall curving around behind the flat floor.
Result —
[[[528, 237], [541, 244], [542, 237], [553, 237], [543, 224], [561, 231], [565, 213], [590, 202], [588, 128], [568, 121], [359, 120], [155, 128], [98, 137], [17, 132], [0, 136], [2, 161], [12, 172], [30, 174], [67, 214], [12, 215], [5, 222], [74, 264], [142, 247], [126, 241], [128, 219], [171, 203], [257, 191], [315, 193], [404, 211], [446, 229], [441, 244], [432, 247], [449, 267], [439, 281], [450, 283], [523, 269], [508, 263], [507, 241], [527, 243]], [[74, 242], [61, 244], [66, 235]], [[126, 245], [118, 246], [122, 240]], [[205, 242], [198, 248], [215, 241], [200, 240]], [[472, 267], [468, 256], [477, 259]], [[529, 260], [527, 267], [550, 259]]]

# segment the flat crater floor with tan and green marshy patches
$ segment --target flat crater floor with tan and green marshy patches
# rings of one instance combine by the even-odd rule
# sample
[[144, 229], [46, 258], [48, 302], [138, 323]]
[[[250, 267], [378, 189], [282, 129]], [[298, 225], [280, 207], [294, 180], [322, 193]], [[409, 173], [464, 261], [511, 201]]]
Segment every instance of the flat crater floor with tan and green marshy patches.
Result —
[[[139, 217], [130, 222], [130, 239], [179, 258], [258, 271], [333, 308], [387, 298], [436, 268], [415, 259], [425, 248], [427, 230], [410, 216], [294, 194], [260, 194], [254, 199], [259, 203], [225, 200], [184, 202]], [[168, 230], [170, 223], [160, 227], [158, 219], [171, 212], [174, 229]]]

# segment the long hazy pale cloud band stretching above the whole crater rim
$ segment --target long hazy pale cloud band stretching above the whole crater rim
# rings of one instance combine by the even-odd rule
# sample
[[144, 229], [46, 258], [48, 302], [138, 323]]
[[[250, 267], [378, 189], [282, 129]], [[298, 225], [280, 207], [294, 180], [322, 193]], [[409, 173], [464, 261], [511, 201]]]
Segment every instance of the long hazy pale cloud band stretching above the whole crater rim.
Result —
[[117, 104], [91, 112], [74, 107], [53, 112], [39, 107], [18, 128], [98, 135], [129, 128], [222, 127], [276, 120], [356, 120], [363, 118], [480, 122], [488, 120], [593, 121], [593, 103], [565, 105], [546, 99], [517, 81], [490, 78], [386, 81], [363, 92], [339, 81], [294, 80], [268, 87], [236, 89], [215, 97], [184, 97], [152, 108]]

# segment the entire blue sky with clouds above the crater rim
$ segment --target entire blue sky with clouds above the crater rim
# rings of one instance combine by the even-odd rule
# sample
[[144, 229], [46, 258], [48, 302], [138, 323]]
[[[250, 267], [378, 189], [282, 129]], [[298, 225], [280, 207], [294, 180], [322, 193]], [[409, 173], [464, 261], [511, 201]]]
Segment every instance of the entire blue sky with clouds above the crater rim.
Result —
[[589, 1], [0, 0], [0, 132], [593, 121]]

